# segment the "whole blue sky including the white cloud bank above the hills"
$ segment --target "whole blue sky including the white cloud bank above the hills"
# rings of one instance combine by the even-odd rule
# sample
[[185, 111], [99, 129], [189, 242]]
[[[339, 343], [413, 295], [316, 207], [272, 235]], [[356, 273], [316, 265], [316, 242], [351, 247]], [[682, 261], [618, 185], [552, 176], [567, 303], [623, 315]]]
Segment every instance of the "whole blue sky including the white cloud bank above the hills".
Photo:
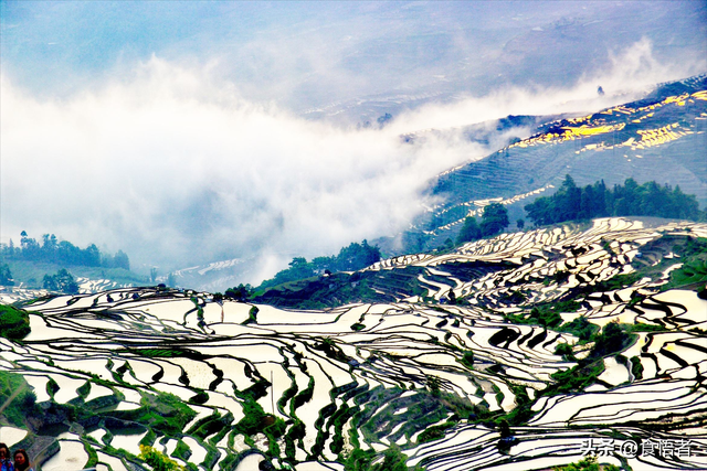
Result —
[[0, 47], [3, 243], [254, 258], [257, 281], [405, 229], [508, 138], [464, 126], [707, 72], [707, 2], [2, 0]]

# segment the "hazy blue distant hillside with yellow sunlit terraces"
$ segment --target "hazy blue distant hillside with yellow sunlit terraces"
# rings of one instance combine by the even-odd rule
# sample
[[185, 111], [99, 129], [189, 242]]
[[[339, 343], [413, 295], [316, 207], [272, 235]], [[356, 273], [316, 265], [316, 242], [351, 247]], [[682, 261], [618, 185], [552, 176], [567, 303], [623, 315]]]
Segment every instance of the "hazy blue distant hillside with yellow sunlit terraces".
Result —
[[579, 185], [655, 180], [679, 185], [704, 205], [706, 100], [703, 75], [664, 84], [639, 101], [541, 125], [532, 136], [440, 175], [432, 194], [444, 203], [418, 221], [416, 231], [439, 246], [489, 201], [514, 207], [520, 217], [521, 205], [551, 193], [566, 174]]

